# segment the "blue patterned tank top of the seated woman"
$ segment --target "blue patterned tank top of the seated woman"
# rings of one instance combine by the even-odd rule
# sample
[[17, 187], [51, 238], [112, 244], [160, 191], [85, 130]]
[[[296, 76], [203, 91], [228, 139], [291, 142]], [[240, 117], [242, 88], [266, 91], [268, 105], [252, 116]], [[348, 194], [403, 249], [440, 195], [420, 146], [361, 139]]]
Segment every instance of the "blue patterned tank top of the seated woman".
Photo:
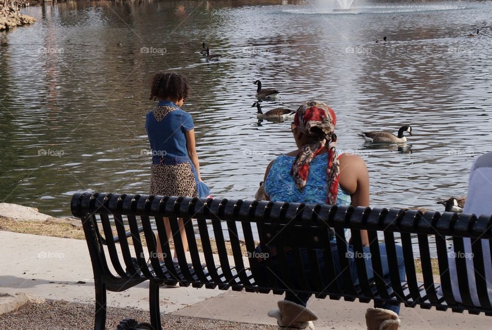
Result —
[[[265, 193], [273, 202], [289, 203], [326, 203], [326, 166], [328, 153], [315, 156], [309, 167], [309, 175], [303, 191], [297, 189], [294, 178], [291, 175], [291, 167], [296, 158], [294, 156], [280, 155], [275, 159], [264, 183]], [[350, 205], [351, 197], [338, 186], [337, 205]], [[347, 229], [345, 229], [345, 237]], [[332, 242], [335, 243], [335, 238]]]

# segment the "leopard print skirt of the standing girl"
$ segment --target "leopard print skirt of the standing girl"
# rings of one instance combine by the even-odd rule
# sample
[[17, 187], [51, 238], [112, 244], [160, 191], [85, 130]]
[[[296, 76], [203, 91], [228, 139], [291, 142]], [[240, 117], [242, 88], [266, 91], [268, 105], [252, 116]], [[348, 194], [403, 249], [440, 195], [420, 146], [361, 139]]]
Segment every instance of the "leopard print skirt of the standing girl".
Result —
[[150, 194], [198, 197], [195, 176], [190, 163], [153, 164], [151, 167]]

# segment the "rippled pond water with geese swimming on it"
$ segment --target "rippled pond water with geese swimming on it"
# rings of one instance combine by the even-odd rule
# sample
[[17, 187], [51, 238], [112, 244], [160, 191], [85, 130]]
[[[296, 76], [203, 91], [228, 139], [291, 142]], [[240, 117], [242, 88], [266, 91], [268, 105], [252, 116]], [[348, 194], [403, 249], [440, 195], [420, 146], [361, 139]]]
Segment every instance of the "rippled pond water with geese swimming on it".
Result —
[[[282, 4], [283, 3], [283, 4]], [[490, 151], [492, 6], [363, 3], [350, 12], [292, 2], [69, 2], [25, 10], [35, 25], [0, 48], [0, 201], [69, 215], [75, 191], [147, 193], [149, 78], [185, 74], [202, 177], [217, 197], [252, 197], [267, 164], [294, 149], [289, 122], [258, 122], [255, 85], [282, 91], [264, 110], [320, 99], [338, 148], [358, 153], [372, 206], [441, 210], [464, 195]], [[481, 29], [480, 37], [466, 37]], [[374, 40], [387, 36], [386, 44]], [[206, 62], [201, 42], [219, 62]], [[121, 47], [117, 45], [121, 42]], [[146, 52], [146, 50], [149, 50]], [[411, 124], [404, 146], [357, 134]]]

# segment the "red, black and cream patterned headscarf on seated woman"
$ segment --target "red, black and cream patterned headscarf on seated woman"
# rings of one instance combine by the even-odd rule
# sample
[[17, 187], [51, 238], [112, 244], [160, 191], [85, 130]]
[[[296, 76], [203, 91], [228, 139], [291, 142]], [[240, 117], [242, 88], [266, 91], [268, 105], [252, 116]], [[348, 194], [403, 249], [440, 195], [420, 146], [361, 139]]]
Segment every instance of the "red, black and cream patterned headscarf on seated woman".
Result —
[[328, 167], [326, 168], [327, 198], [326, 204], [336, 205], [338, 194], [338, 179], [340, 166], [338, 164], [335, 125], [337, 118], [333, 110], [319, 101], [309, 101], [301, 104], [297, 109], [293, 125], [312, 142], [301, 147], [299, 155], [291, 168], [299, 190], [304, 189], [308, 180], [309, 164], [316, 155], [328, 146]]

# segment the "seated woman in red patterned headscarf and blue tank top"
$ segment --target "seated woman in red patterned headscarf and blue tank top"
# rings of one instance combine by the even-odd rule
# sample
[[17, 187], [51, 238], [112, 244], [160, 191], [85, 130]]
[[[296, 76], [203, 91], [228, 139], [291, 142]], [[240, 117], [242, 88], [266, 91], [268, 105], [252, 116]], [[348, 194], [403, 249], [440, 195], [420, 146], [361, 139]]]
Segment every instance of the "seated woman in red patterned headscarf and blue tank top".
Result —
[[[330, 205], [369, 205], [369, 178], [364, 161], [356, 155], [338, 155], [336, 117], [333, 110], [318, 101], [303, 103], [296, 112], [291, 130], [297, 149], [277, 157], [265, 171], [265, 198], [271, 201], [330, 204]], [[367, 231], [361, 230], [364, 252], [370, 252]], [[331, 241], [332, 254], [338, 255], [335, 238]], [[400, 278], [405, 278], [403, 252], [397, 247]], [[353, 251], [348, 245], [348, 251]], [[383, 275], [389, 274], [384, 244], [379, 246]], [[321, 254], [319, 254], [322, 258]], [[370, 256], [370, 254], [367, 254]], [[357, 270], [355, 255], [348, 254], [352, 278], [356, 282]], [[275, 258], [275, 257], [273, 257]], [[370, 257], [365, 257], [369, 278], [374, 278]], [[340, 265], [333, 260], [340, 272]], [[320, 260], [320, 266], [321, 266]], [[305, 269], [304, 269], [305, 270]], [[387, 281], [389, 282], [389, 280]], [[357, 284], [357, 283], [354, 283]], [[279, 309], [269, 313], [277, 318], [279, 329], [314, 329], [312, 323], [317, 317], [308, 309], [306, 303], [310, 295], [296, 295], [286, 292], [285, 300], [278, 302]], [[370, 330], [398, 329], [400, 320], [399, 305], [385, 303], [381, 308], [368, 309], [367, 327]]]

